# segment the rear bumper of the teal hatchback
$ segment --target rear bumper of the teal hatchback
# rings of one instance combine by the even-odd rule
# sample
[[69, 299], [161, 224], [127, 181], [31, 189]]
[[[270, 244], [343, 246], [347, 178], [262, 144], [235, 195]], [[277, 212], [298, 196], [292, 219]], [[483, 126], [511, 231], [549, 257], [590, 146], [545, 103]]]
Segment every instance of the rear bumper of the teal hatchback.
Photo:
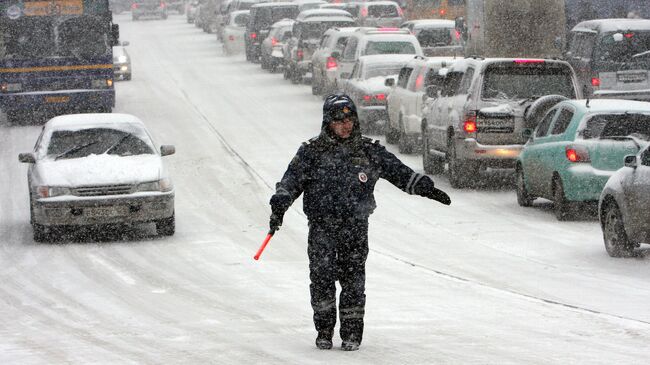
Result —
[[570, 201], [598, 201], [614, 172], [595, 169], [588, 163], [573, 164], [560, 173], [564, 195]]

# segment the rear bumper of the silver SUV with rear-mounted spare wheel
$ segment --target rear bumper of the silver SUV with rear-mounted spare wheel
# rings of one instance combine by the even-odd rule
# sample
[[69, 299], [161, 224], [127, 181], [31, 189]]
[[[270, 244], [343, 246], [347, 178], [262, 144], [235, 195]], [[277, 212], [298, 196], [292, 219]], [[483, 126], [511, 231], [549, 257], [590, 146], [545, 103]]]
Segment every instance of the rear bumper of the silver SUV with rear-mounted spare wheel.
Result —
[[456, 140], [456, 156], [464, 160], [482, 161], [489, 167], [512, 168], [523, 145], [483, 145], [474, 138]]

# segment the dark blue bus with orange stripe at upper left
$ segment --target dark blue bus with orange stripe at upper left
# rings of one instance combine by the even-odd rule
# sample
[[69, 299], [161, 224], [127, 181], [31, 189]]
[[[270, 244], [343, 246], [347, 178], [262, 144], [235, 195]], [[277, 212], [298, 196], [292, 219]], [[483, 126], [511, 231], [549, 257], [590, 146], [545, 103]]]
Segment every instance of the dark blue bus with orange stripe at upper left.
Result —
[[0, 110], [11, 124], [111, 112], [118, 44], [109, 0], [0, 0]]

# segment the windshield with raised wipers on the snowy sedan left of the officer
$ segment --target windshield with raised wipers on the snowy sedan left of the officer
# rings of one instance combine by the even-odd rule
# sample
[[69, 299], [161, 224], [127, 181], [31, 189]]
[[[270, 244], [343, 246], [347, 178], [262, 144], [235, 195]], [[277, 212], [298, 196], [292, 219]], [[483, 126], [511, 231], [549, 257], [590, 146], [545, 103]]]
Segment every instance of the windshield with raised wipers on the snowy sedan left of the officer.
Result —
[[109, 128], [56, 131], [47, 146], [47, 155], [56, 159], [86, 157], [91, 154], [133, 156], [153, 154], [150, 144], [134, 134]]

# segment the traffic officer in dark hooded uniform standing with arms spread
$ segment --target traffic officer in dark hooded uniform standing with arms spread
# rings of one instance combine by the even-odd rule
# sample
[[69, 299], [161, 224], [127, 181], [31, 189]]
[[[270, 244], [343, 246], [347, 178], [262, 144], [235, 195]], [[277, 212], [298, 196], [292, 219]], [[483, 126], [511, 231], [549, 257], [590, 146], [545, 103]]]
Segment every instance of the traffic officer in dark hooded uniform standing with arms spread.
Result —
[[409, 194], [451, 204], [426, 175], [414, 172], [378, 141], [361, 136], [354, 103], [345, 94], [329, 95], [317, 137], [302, 144], [271, 197], [270, 229], [275, 232], [293, 201], [304, 193], [309, 220], [308, 256], [316, 346], [332, 348], [336, 324], [336, 280], [341, 285], [341, 348], [359, 348], [366, 303], [365, 263], [368, 217], [376, 207], [379, 178]]

